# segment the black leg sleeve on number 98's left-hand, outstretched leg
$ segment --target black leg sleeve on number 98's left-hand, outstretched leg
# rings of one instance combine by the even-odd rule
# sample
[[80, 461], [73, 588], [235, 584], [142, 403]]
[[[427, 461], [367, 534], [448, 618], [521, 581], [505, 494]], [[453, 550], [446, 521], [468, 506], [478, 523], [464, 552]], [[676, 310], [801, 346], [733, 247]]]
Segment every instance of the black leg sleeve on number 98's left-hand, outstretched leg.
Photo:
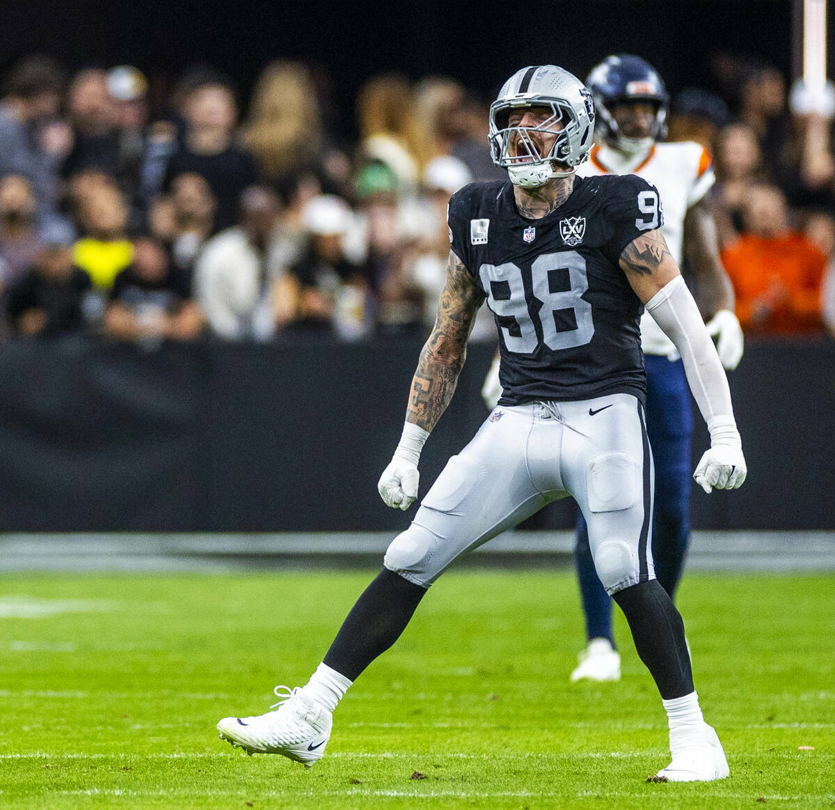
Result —
[[426, 588], [383, 568], [342, 623], [324, 663], [357, 680], [367, 665], [400, 638]]

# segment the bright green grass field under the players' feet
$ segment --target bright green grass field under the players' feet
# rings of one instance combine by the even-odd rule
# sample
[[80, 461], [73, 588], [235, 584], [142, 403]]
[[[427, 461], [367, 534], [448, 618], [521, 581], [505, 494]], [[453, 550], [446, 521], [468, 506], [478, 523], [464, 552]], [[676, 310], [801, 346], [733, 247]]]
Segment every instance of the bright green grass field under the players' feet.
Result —
[[444, 576], [310, 771], [220, 741], [221, 716], [305, 682], [372, 575], [3, 576], [0, 805], [835, 806], [832, 576], [686, 578], [723, 782], [645, 782], [666, 720], [620, 616], [623, 680], [569, 685], [583, 639], [564, 571]]

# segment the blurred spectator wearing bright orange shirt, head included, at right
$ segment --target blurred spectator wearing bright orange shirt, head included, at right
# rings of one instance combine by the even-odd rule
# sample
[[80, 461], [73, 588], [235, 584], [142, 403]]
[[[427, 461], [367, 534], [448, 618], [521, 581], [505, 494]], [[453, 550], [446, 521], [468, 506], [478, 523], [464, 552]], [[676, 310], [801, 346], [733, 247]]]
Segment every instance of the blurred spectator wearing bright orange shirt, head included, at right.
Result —
[[743, 219], [745, 232], [722, 251], [722, 262], [746, 334], [821, 332], [825, 260], [812, 242], [789, 227], [782, 191], [752, 186]]

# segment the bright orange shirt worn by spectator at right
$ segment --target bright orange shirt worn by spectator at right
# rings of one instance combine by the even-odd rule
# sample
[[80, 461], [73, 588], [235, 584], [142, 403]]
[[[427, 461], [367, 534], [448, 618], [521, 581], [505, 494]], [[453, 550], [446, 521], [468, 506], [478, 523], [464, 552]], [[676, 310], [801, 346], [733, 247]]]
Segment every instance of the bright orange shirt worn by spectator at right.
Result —
[[800, 233], [744, 235], [722, 251], [746, 332], [822, 331], [821, 284], [826, 260]]

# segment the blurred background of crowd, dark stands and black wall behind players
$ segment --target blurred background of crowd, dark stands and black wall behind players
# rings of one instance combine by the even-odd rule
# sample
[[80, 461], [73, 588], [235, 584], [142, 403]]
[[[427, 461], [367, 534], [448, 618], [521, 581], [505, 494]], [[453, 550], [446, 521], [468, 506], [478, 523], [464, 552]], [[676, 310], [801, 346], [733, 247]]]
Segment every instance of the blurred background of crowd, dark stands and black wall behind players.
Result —
[[[524, 65], [584, 78], [610, 53], [649, 60], [670, 139], [714, 155], [746, 331], [730, 380], [749, 478], [696, 492], [694, 526], [835, 530], [835, 102], [796, 88], [802, 8], [4, 9], [0, 532], [405, 527], [377, 477], [443, 286], [448, 198], [502, 176], [488, 105]], [[422, 492], [487, 415], [488, 315]], [[563, 502], [534, 527], [573, 520]]]

